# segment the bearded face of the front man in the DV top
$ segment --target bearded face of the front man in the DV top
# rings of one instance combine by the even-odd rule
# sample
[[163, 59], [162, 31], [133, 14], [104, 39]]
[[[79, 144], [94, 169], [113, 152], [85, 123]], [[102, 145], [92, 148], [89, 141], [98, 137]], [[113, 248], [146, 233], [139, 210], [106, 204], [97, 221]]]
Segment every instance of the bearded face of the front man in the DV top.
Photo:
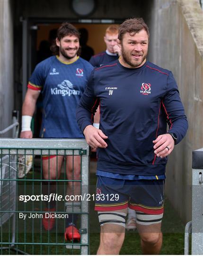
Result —
[[149, 38], [144, 29], [134, 35], [125, 33], [122, 41], [118, 40], [122, 51], [121, 64], [128, 68], [141, 67], [146, 61], [148, 44]]

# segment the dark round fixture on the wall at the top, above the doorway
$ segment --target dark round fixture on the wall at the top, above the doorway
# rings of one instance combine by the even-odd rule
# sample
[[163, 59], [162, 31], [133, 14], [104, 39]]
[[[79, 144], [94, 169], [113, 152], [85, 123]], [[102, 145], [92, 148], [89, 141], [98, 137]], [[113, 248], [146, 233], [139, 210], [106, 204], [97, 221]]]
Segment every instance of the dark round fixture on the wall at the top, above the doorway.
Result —
[[95, 9], [95, 0], [72, 0], [72, 9], [79, 16], [87, 16]]

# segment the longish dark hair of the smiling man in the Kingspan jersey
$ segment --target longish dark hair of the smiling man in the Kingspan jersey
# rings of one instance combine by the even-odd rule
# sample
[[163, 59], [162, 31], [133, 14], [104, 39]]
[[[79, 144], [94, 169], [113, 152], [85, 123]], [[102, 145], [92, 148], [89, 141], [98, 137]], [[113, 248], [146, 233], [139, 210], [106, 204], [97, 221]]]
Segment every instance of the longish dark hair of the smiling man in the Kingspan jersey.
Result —
[[[63, 37], [66, 37], [68, 35], [76, 36], [79, 39], [78, 29], [74, 27], [71, 23], [64, 22], [57, 30], [57, 38], [60, 41]], [[56, 45], [56, 40], [53, 41], [51, 51], [53, 52], [53, 55], [59, 55], [59, 46]]]

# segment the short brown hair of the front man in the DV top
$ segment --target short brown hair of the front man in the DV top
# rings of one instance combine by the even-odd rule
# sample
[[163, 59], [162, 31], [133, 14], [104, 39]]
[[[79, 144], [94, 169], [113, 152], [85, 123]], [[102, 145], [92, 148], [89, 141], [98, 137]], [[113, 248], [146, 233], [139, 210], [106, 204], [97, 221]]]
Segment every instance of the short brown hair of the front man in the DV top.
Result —
[[143, 18], [128, 18], [126, 19], [118, 29], [118, 39], [122, 41], [125, 33], [136, 34], [144, 29], [147, 32], [148, 38], [150, 38], [150, 32], [147, 24]]

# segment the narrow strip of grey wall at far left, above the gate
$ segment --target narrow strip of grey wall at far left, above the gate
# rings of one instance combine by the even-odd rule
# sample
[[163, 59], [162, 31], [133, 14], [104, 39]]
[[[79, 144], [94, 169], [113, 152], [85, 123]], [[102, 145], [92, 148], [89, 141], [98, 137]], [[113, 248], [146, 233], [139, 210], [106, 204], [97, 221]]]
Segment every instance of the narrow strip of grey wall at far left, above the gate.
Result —
[[[14, 106], [13, 13], [10, 0], [0, 0], [0, 130], [12, 122]], [[9, 137], [11, 133], [5, 136]]]

